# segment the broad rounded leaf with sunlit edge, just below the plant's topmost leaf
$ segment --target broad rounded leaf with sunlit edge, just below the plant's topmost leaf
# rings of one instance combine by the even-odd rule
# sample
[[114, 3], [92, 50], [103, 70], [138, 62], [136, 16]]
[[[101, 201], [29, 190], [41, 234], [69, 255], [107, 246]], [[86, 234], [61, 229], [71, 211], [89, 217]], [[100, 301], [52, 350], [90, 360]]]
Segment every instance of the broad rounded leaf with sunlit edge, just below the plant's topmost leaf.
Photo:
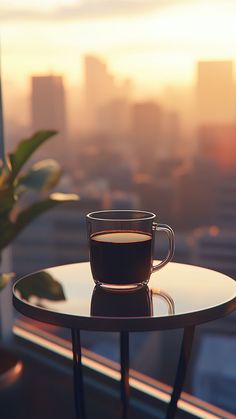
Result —
[[35, 163], [31, 169], [17, 181], [17, 190], [22, 188], [36, 191], [48, 191], [57, 185], [61, 177], [60, 165], [52, 159]]

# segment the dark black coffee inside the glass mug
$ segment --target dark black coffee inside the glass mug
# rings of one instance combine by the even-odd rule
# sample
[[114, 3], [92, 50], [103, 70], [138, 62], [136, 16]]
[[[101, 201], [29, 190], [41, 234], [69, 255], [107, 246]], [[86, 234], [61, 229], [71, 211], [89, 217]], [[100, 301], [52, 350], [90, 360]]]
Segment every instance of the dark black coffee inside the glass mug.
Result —
[[152, 236], [142, 231], [101, 231], [90, 237], [90, 262], [96, 282], [138, 284], [149, 279]]

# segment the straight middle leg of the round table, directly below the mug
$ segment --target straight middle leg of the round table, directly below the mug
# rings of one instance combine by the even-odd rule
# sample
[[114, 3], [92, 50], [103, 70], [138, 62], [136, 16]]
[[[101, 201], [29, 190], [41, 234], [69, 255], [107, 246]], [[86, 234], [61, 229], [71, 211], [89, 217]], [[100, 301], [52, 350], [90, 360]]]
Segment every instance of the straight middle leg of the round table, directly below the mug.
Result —
[[122, 402], [122, 419], [129, 417], [129, 333], [120, 333], [120, 395]]

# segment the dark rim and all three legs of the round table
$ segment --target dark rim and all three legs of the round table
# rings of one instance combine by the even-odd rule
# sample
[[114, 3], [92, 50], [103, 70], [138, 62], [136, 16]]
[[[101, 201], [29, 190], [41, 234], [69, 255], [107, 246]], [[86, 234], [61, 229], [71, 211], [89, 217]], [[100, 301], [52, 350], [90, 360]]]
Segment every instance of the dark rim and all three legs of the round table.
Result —
[[[173, 269], [171, 268], [172, 265]], [[174, 265], [179, 264], [170, 263], [168, 265], [168, 269], [170, 269], [170, 272], [171, 269], [175, 269]], [[184, 269], [189, 270], [189, 266], [183, 265], [183, 270]], [[204, 274], [204, 271], [209, 272], [209, 270], [199, 267], [191, 267], [191, 269], [199, 270], [200, 274]], [[222, 274], [217, 273], [217, 275]], [[228, 278], [228, 280], [231, 281], [229, 277], [226, 278]], [[20, 279], [19, 281], [22, 281], [23, 279]], [[17, 281], [17, 283], [19, 281]], [[234, 281], [232, 280], [232, 283], [233, 282]], [[17, 288], [17, 283], [15, 284], [14, 288]], [[227, 299], [222, 299], [222, 301], [218, 302], [216, 305], [206, 305], [206, 307], [200, 310], [193, 310], [188, 313], [180, 313], [178, 315], [163, 317], [114, 317], [112, 318], [112, 321], [111, 318], [106, 317], [88, 318], [83, 315], [78, 316], [77, 314], [70, 313], [64, 314], [50, 309], [43, 309], [41, 307], [34, 306], [30, 303], [27, 303], [26, 301], [23, 301], [14, 291], [15, 290], [13, 290], [13, 304], [19, 312], [37, 321], [51, 323], [57, 326], [67, 327], [71, 329], [76, 419], [86, 419], [83, 385], [83, 366], [81, 361], [81, 330], [110, 331], [118, 332], [120, 334], [120, 398], [122, 405], [122, 419], [129, 419], [129, 333], [160, 331], [168, 329], [173, 330], [182, 328], [184, 330], [184, 333], [180, 349], [179, 362], [176, 370], [176, 376], [174, 380], [170, 402], [168, 404], [166, 412], [166, 419], [173, 419], [176, 415], [178, 401], [181, 396], [187, 373], [187, 368], [193, 346], [195, 327], [202, 323], [222, 318], [236, 309], [234, 285], [232, 290], [230, 286], [230, 293]]]

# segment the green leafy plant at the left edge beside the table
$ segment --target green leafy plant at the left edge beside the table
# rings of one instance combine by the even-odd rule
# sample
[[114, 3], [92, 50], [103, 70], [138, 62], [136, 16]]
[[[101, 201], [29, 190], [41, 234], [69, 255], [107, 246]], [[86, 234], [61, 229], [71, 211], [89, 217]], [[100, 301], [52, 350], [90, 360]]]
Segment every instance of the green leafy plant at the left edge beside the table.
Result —
[[[29, 169], [23, 170], [31, 155], [56, 131], [39, 131], [32, 137], [19, 142], [16, 149], [0, 160], [0, 267], [3, 251], [13, 242], [17, 235], [36, 217], [68, 201], [78, 200], [76, 194], [50, 193], [61, 177], [60, 165], [55, 160], [41, 160]], [[37, 199], [30, 203], [24, 200], [29, 191], [35, 192]], [[3, 265], [2, 265], [3, 266]], [[13, 274], [0, 270], [0, 337], [4, 335], [4, 317], [11, 307], [11, 302], [2, 298], [2, 291], [9, 287]], [[1, 316], [2, 314], [2, 316]], [[4, 316], [5, 314], [5, 316]], [[8, 329], [9, 329], [8, 325]]]

